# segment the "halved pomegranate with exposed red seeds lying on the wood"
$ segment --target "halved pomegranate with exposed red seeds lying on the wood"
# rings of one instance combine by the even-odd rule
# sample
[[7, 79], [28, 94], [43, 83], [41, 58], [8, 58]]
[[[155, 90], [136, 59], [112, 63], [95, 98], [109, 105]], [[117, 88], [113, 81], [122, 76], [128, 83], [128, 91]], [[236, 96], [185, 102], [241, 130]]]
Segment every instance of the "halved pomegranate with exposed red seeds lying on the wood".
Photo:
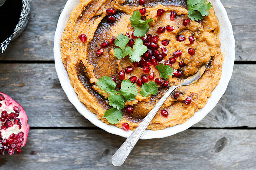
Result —
[[28, 117], [24, 109], [10, 96], [0, 92], [0, 155], [20, 154], [28, 138]]

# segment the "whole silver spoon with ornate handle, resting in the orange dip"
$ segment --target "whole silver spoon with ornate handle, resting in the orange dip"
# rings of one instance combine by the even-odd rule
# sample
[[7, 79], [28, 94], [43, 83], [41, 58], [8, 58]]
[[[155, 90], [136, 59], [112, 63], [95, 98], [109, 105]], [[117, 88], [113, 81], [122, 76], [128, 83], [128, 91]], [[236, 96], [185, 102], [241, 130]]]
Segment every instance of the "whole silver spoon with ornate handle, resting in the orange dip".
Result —
[[151, 122], [151, 120], [154, 118], [154, 116], [156, 115], [157, 111], [160, 109], [160, 107], [162, 106], [162, 104], [164, 103], [164, 101], [167, 99], [167, 97], [177, 88], [180, 86], [186, 86], [189, 84], [192, 84], [194, 82], [196, 82], [204, 73], [206, 67], [208, 66], [210, 62], [207, 62], [207, 64], [202, 65], [198, 72], [193, 75], [190, 76], [186, 79], [184, 79], [181, 84], [177, 85], [177, 86], [171, 86], [169, 88], [169, 90], [163, 95], [163, 97], [159, 100], [159, 102], [154, 106], [154, 108], [147, 114], [147, 116], [141, 121], [141, 123], [139, 124], [138, 127], [136, 127], [136, 129], [132, 132], [132, 134], [124, 141], [124, 143], [119, 147], [119, 149], [117, 150], [117, 152], [112, 156], [111, 160], [112, 160], [112, 164], [114, 166], [121, 166], [124, 161], [126, 160], [126, 158], [128, 157], [128, 155], [130, 154], [130, 152], [132, 151], [133, 147], [135, 146], [135, 144], [138, 142], [140, 136], [142, 135], [142, 133], [145, 131], [145, 129], [148, 127], [149, 123]]

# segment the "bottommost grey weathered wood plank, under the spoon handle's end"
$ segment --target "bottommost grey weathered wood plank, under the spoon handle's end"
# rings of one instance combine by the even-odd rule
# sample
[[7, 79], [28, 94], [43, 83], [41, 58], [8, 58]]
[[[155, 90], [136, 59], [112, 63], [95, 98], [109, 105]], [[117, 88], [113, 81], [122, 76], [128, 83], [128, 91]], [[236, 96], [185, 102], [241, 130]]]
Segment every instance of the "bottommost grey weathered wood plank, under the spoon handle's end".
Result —
[[[243, 135], [242, 135], [243, 134]], [[0, 169], [236, 169], [256, 167], [256, 130], [188, 129], [140, 140], [121, 167], [111, 157], [124, 138], [103, 130], [32, 129], [20, 155], [0, 156]]]

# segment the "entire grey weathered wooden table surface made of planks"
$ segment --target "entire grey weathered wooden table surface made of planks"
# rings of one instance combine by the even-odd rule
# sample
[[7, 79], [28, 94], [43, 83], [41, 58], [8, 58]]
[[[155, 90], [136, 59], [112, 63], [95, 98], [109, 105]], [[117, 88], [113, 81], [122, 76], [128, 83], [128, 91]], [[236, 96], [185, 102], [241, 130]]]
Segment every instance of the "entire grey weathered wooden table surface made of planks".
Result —
[[0, 169], [256, 169], [256, 1], [221, 0], [236, 41], [233, 76], [217, 106], [176, 135], [139, 140], [122, 167], [111, 157], [125, 141], [82, 117], [54, 68], [53, 37], [66, 0], [31, 0], [24, 32], [0, 55], [0, 91], [26, 110], [31, 130], [20, 155]]

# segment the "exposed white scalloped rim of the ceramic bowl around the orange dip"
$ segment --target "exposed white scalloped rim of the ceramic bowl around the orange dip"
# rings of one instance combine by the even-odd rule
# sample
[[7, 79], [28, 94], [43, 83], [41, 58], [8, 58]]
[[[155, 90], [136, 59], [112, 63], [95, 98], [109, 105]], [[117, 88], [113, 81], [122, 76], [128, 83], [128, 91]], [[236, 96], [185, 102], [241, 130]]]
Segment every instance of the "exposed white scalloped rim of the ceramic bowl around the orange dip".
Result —
[[[222, 66], [222, 76], [219, 81], [219, 84], [212, 92], [212, 96], [208, 98], [208, 102], [206, 105], [200, 109], [199, 111], [195, 112], [195, 115], [192, 116], [188, 121], [186, 121], [182, 125], [176, 125], [174, 127], [167, 127], [163, 130], [145, 130], [143, 135], [140, 139], [152, 139], [152, 138], [163, 138], [167, 136], [174, 135], [179, 133], [187, 128], [191, 127], [192, 125], [198, 123], [203, 117], [209, 113], [218, 103], [222, 95], [224, 94], [227, 84], [231, 78], [234, 60], [235, 60], [235, 39], [233, 35], [232, 25], [227, 17], [226, 10], [224, 9], [220, 0], [208, 0], [212, 3], [215, 14], [217, 15], [219, 22], [220, 22], [220, 33], [219, 38], [221, 41], [221, 50], [224, 53], [224, 62]], [[65, 67], [62, 63], [61, 55], [60, 55], [60, 40], [62, 37], [63, 29], [70, 17], [71, 11], [77, 6], [80, 0], [68, 0], [63, 11], [60, 14], [55, 36], [54, 36], [54, 60], [55, 60], [55, 68], [57, 71], [57, 75], [59, 77], [60, 84], [66, 93], [70, 102], [75, 106], [75, 108], [90, 122], [92, 122], [97, 127], [104, 129], [105, 131], [116, 134], [122, 137], [127, 138], [132, 131], [124, 131], [121, 128], [118, 128], [113, 125], [107, 125], [101, 122], [97, 117], [96, 114], [91, 113], [86, 107], [81, 103], [75, 93], [74, 88], [70, 84], [70, 80], [65, 70]]]

